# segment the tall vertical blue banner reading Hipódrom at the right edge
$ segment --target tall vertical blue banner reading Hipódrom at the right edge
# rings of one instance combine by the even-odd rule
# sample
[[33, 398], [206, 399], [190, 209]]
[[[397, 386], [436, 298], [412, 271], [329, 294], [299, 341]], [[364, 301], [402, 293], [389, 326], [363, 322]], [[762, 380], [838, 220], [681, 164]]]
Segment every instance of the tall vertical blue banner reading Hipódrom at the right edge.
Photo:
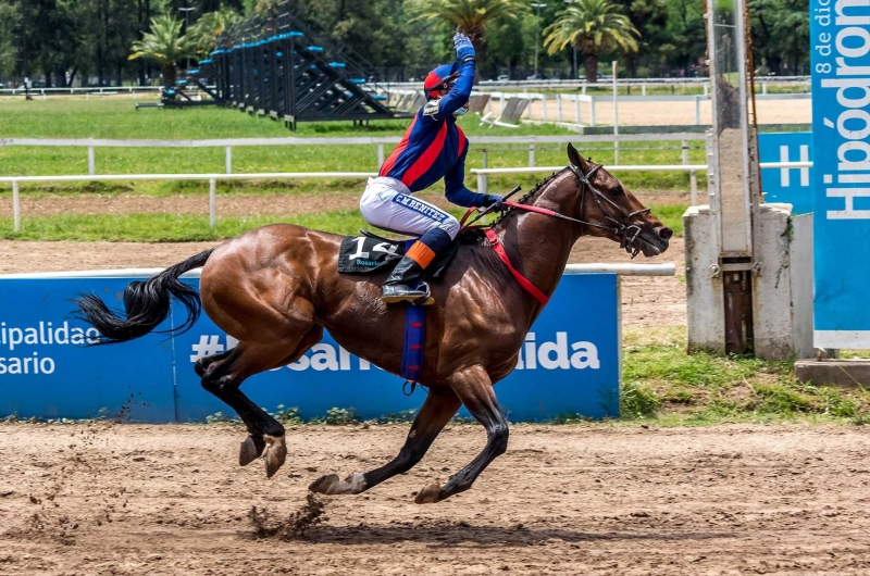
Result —
[[870, 1], [811, 0], [813, 345], [870, 348]]

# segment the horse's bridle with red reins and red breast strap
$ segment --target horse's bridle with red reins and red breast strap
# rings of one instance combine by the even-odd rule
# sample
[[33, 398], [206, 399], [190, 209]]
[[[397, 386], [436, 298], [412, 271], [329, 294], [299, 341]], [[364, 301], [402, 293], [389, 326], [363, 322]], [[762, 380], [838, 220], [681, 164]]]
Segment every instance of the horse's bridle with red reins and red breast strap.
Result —
[[[593, 167], [589, 171], [588, 174], [583, 174], [583, 172], [577, 166], [575, 166], [573, 162], [569, 163], [568, 166], [567, 166], [568, 170], [570, 170], [571, 172], [574, 173], [574, 175], [577, 177], [577, 179], [580, 180], [580, 184], [581, 184], [581, 187], [580, 187], [580, 189], [581, 189], [581, 192], [580, 192], [580, 195], [581, 195], [580, 196], [581, 217], [580, 218], [566, 216], [564, 214], [562, 214], [560, 212], [556, 212], [555, 210], [549, 210], [549, 209], [539, 208], [539, 206], [531, 206], [529, 204], [521, 203], [522, 200], [525, 200], [526, 198], [531, 197], [532, 193], [537, 191], [538, 187], [542, 186], [540, 184], [538, 185], [538, 187], [536, 187], [534, 190], [532, 190], [532, 192], [530, 192], [529, 195], [523, 197], [520, 202], [506, 202], [506, 201], [502, 201], [502, 205], [508, 206], [509, 209], [512, 209], [512, 210], [520, 210], [522, 212], [532, 212], [534, 214], [543, 214], [545, 216], [550, 216], [550, 217], [554, 217], [554, 218], [567, 220], [569, 222], [574, 222], [574, 223], [581, 225], [581, 233], [583, 230], [583, 228], [582, 228], [583, 226], [592, 226], [593, 228], [598, 228], [598, 229], [601, 229], [601, 230], [610, 231], [610, 233], [612, 233], [613, 235], [616, 235], [616, 236], [618, 236], [620, 238], [619, 247], [624, 249], [630, 254], [632, 254], [632, 259], [634, 259], [641, 252], [641, 246], [635, 246], [637, 237], [641, 234], [641, 227], [638, 225], [636, 225], [636, 224], [632, 224], [630, 221], [631, 221], [631, 218], [633, 218], [634, 216], [636, 216], [638, 214], [644, 214], [646, 212], [649, 212], [650, 209], [645, 208], [645, 209], [642, 209], [642, 210], [635, 210], [634, 212], [625, 212], [625, 209], [623, 209], [621, 205], [619, 205], [616, 202], [613, 202], [610, 198], [606, 197], [597, 188], [595, 188], [595, 186], [593, 186], [593, 184], [589, 180], [589, 178], [592, 178], [595, 175], [596, 172], [601, 170], [602, 166], [604, 166], [604, 164], [596, 165], [595, 167]], [[507, 199], [508, 197], [513, 196], [513, 193], [517, 192], [518, 188], [514, 188], [513, 190], [511, 190], [511, 192], [509, 195], [505, 196], [505, 198]], [[588, 221], [585, 220], [586, 190], [592, 190], [593, 200], [595, 200], [595, 203], [598, 205], [598, 210], [600, 210], [600, 212], [601, 212], [601, 214], [604, 214], [605, 218], [611, 223], [610, 225], [599, 224], [597, 222], [588, 222]], [[622, 221], [619, 221], [619, 220], [614, 218], [613, 216], [611, 216], [608, 213], [608, 211], [605, 210], [604, 205], [601, 204], [601, 200], [605, 200], [611, 206], [613, 206], [618, 211], [622, 212]], [[477, 228], [477, 229], [483, 228], [484, 234], [486, 235], [486, 239], [489, 242], [489, 246], [493, 247], [493, 250], [496, 251], [496, 254], [498, 254], [498, 258], [501, 259], [501, 262], [505, 263], [505, 265], [508, 267], [510, 273], [513, 275], [513, 277], [517, 279], [517, 281], [520, 284], [520, 286], [525, 288], [525, 290], [529, 293], [534, 296], [535, 299], [538, 302], [540, 302], [542, 304], [546, 304], [547, 302], [549, 302], [549, 297], [547, 295], [545, 295], [544, 292], [542, 292], [534, 284], [532, 284], [532, 281], [529, 278], [523, 276], [520, 271], [518, 271], [515, 267], [513, 267], [513, 264], [510, 261], [510, 256], [508, 256], [508, 253], [505, 251], [505, 248], [501, 246], [501, 242], [498, 241], [498, 236], [496, 235], [495, 230], [492, 227], [472, 226], [471, 224], [465, 226], [465, 221], [474, 212], [478, 212], [480, 214], [477, 215], [476, 218], [474, 218], [474, 221], [472, 221], [472, 224], [474, 222], [476, 222], [477, 220], [480, 220], [485, 213], [489, 212], [490, 210], [492, 210], [490, 208], [487, 208], [485, 210], [481, 210], [480, 208], [470, 208], [465, 212], [465, 215], [462, 216], [462, 220], [459, 222], [460, 226], [462, 226], [462, 228], [460, 229], [460, 233], [461, 231], [465, 231], [468, 229], [472, 229], [472, 228]]]

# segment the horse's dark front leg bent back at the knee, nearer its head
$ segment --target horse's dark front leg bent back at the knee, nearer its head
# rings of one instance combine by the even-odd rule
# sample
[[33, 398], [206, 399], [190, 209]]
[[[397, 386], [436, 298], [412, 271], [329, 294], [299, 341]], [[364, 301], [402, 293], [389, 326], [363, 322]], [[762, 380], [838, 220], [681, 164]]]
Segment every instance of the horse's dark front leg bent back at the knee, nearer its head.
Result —
[[418, 504], [439, 502], [464, 492], [486, 466], [508, 449], [508, 422], [498, 408], [493, 383], [486, 371], [480, 365], [471, 366], [453, 374], [448, 383], [471, 415], [486, 428], [486, 447], [471, 464], [451, 476], [444, 486], [432, 483], [423, 488], [414, 499]]

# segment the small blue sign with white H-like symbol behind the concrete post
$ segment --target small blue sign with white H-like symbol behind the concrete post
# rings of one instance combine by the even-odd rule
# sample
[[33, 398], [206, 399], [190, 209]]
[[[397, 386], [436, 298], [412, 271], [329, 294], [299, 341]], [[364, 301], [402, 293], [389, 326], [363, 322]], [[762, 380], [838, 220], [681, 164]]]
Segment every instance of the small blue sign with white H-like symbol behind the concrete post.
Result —
[[[809, 162], [812, 133], [762, 133], [758, 135], [761, 162]], [[812, 212], [810, 168], [763, 168], [761, 191], [765, 202], [792, 204], [792, 214]]]

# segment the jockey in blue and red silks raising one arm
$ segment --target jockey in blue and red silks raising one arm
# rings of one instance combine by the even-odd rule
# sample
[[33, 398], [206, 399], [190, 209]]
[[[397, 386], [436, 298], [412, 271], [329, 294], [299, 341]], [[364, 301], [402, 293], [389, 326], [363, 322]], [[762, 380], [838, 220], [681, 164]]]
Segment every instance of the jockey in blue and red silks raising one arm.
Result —
[[[370, 178], [360, 200], [365, 222], [385, 230], [419, 236], [383, 286], [384, 302], [432, 304], [423, 272], [459, 233], [459, 222], [434, 204], [413, 198], [444, 178], [447, 200], [461, 206], [500, 208], [501, 198], [465, 188], [465, 154], [469, 140], [456, 118], [469, 109], [474, 84], [474, 47], [463, 35], [453, 37], [457, 61], [426, 76], [427, 102], [418, 111], [399, 146]], [[420, 285], [414, 288], [414, 284]]]

